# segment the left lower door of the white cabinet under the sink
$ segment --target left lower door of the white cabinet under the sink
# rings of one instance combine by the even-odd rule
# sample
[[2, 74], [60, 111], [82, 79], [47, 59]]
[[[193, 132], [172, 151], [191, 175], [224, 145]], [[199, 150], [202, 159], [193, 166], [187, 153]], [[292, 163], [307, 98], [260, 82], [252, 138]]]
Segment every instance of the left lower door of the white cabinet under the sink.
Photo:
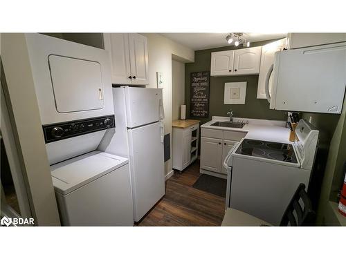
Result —
[[201, 137], [201, 169], [221, 173], [222, 140]]

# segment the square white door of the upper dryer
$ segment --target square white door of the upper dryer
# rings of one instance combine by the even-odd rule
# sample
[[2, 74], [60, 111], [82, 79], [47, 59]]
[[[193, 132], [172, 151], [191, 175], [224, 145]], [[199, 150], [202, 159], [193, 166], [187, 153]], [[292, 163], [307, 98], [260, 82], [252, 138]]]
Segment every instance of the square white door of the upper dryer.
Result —
[[57, 112], [104, 108], [100, 63], [58, 55], [49, 55], [48, 62]]

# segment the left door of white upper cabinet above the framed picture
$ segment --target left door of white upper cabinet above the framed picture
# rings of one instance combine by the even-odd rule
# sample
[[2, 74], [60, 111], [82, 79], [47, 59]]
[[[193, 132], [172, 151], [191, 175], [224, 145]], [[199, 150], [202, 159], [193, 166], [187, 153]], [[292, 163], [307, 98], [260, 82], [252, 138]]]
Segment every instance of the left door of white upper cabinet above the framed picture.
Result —
[[210, 75], [232, 75], [235, 51], [212, 52]]

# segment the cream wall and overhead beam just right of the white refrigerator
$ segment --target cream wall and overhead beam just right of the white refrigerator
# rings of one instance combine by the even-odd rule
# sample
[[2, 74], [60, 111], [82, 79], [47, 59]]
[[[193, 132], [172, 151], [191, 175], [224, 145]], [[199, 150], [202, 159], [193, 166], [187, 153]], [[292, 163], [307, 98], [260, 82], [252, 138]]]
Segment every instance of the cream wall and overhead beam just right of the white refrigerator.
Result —
[[[194, 62], [194, 50], [177, 44], [156, 33], [143, 34], [148, 40], [149, 85], [156, 88], [156, 72], [163, 73], [163, 106], [165, 108], [165, 134], [171, 134], [172, 143], [172, 55], [174, 59]], [[172, 157], [172, 145], [171, 145]], [[165, 163], [165, 175], [172, 171], [172, 158]]]

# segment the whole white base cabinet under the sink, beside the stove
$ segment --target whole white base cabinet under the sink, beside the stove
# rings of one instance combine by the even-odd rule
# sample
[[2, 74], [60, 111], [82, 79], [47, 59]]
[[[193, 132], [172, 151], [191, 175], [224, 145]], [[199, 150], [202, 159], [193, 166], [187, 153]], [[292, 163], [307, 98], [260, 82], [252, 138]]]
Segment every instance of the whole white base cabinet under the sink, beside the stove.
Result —
[[226, 155], [245, 135], [239, 131], [202, 128], [200, 173], [226, 178], [227, 172], [223, 165]]

